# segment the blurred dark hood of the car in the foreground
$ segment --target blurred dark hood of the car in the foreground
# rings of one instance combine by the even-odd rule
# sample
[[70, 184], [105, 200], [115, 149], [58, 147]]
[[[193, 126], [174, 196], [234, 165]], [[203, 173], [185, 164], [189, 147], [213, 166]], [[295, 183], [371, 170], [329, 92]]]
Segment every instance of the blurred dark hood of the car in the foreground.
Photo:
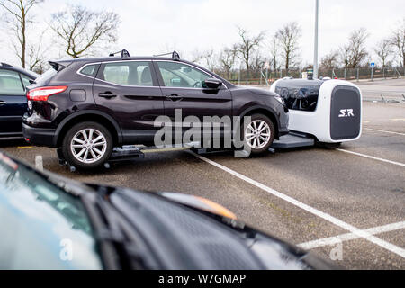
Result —
[[[127, 219], [144, 218], [148, 242], [181, 254], [168, 269], [336, 269], [329, 261], [299, 247], [247, 226], [234, 218], [210, 211], [193, 196], [174, 193], [143, 193], [118, 190], [111, 200]], [[198, 199], [198, 198], [197, 198]], [[197, 201], [198, 202], [198, 201]], [[204, 203], [204, 202], [202, 202]], [[141, 213], [134, 211], [141, 207]], [[150, 226], [149, 228], [147, 226]], [[156, 228], [159, 229], [156, 229]], [[148, 232], [146, 234], [148, 234]], [[162, 256], [163, 257], [163, 256]], [[183, 259], [184, 260], [184, 259]], [[172, 266], [173, 264], [178, 266]]]

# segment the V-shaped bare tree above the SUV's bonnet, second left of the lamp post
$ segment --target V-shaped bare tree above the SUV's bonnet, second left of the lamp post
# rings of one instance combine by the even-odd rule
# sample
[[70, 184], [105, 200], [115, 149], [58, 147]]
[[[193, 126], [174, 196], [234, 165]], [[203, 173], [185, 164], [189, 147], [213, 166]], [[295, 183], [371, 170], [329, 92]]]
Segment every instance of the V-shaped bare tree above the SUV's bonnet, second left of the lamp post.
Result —
[[240, 43], [238, 44], [238, 53], [240, 58], [245, 62], [247, 73], [252, 64], [252, 57], [254, 56], [257, 48], [260, 47], [262, 40], [265, 38], [265, 31], [259, 32], [256, 36], [249, 35], [249, 33], [238, 27], [238, 34], [240, 36]]

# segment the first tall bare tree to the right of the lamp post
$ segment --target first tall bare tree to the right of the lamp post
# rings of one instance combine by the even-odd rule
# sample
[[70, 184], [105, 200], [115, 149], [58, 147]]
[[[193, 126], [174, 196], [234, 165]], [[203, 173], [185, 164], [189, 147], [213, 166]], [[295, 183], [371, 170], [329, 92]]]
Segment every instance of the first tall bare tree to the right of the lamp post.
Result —
[[365, 49], [365, 40], [367, 38], [368, 32], [365, 28], [359, 28], [351, 32], [347, 44], [340, 48], [340, 58], [345, 67], [359, 67], [367, 58], [368, 53]]

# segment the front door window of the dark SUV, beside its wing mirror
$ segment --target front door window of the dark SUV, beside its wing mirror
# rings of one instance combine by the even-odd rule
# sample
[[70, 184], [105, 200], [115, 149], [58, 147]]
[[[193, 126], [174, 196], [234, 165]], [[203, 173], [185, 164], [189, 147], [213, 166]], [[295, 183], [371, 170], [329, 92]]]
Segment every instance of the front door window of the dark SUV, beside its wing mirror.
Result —
[[157, 65], [167, 87], [202, 88], [202, 81], [211, 78], [201, 70], [183, 63], [161, 61]]

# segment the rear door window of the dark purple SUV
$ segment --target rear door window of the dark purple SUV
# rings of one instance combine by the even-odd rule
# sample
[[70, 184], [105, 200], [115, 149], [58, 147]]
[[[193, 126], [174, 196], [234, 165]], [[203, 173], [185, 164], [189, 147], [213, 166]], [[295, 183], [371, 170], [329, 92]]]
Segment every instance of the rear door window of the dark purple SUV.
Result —
[[149, 62], [107, 63], [103, 78], [118, 85], [153, 86]]

